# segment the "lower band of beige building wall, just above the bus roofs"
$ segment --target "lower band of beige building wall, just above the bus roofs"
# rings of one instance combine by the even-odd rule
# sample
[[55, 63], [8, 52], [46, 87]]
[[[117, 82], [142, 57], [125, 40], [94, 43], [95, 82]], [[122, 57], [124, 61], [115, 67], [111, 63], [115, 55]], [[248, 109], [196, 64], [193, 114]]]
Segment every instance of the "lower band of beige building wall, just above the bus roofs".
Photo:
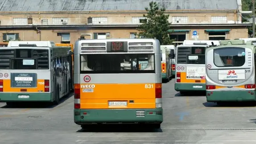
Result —
[[[198, 40], [208, 40], [208, 33], [205, 29], [231, 29], [230, 32], [226, 33], [226, 39], [235, 38], [247, 38], [248, 29], [244, 27], [180, 27], [177, 29], [190, 29], [186, 34], [187, 40], [192, 40], [192, 32], [196, 30], [198, 32]], [[135, 28], [106, 28], [106, 29], [79, 29], [79, 30], [41, 30], [41, 41], [54, 41], [55, 43], [61, 43], [61, 37], [57, 36], [57, 33], [70, 33], [70, 42], [74, 43], [81, 34], [93, 33], [110, 33], [108, 38], [130, 38], [130, 33], [138, 32]], [[3, 33], [19, 33], [19, 37], [23, 41], [39, 41], [40, 34], [35, 30], [0, 30], [0, 41], [3, 41]], [[86, 39], [90, 39], [90, 36], [86, 36]]]

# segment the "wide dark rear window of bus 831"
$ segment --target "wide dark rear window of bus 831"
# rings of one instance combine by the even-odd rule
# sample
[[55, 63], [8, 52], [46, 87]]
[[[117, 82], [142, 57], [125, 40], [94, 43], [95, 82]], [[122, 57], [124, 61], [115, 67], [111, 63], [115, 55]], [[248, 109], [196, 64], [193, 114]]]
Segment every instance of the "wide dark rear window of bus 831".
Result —
[[80, 58], [81, 73], [155, 73], [154, 54], [87, 54]]

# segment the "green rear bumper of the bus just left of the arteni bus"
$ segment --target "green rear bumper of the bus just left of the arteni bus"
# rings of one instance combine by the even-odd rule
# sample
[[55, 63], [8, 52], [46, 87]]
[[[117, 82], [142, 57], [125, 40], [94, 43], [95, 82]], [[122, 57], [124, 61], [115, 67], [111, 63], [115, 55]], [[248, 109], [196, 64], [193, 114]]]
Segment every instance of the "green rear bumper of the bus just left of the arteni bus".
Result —
[[175, 91], [206, 91], [205, 83], [175, 83]]

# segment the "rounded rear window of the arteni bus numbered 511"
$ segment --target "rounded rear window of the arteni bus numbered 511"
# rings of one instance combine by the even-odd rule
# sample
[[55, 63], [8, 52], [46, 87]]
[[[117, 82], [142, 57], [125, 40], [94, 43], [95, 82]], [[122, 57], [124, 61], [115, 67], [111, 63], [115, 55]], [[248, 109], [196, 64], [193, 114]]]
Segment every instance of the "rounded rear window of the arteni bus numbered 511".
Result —
[[224, 47], [214, 49], [214, 64], [218, 67], [243, 66], [245, 49], [240, 47]]

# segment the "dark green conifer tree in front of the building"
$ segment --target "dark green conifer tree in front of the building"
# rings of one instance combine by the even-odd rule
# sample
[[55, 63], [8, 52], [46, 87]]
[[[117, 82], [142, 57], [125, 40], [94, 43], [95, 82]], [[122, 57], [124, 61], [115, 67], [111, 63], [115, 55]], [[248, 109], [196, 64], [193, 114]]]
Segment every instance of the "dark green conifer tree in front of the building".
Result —
[[156, 38], [160, 41], [161, 45], [170, 45], [174, 39], [170, 39], [169, 32], [171, 23], [169, 23], [169, 15], [164, 14], [165, 8], [159, 9], [157, 2], [151, 1], [149, 3], [149, 8], [145, 8], [147, 15], [143, 14], [146, 17], [143, 21], [138, 31], [142, 32], [139, 35], [145, 38]]

